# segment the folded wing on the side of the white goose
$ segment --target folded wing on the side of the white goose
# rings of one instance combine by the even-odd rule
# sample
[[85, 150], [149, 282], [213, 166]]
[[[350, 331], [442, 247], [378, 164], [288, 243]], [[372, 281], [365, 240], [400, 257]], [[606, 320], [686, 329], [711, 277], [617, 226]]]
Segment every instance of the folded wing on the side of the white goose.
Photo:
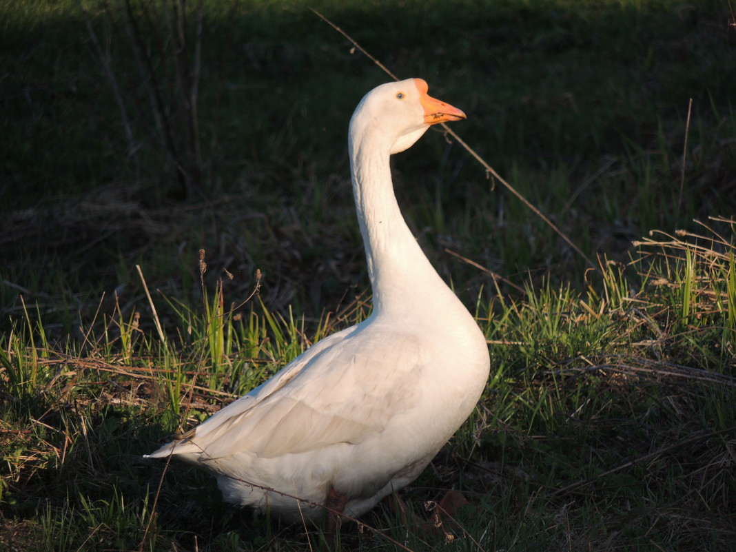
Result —
[[[414, 383], [424, 353], [414, 336], [395, 339], [394, 330], [394, 339], [386, 339], [375, 326], [357, 328], [323, 339], [266, 385], [199, 425], [182, 452], [191, 453], [188, 445], [194, 445], [205, 461], [245, 451], [273, 458], [381, 433], [392, 417], [417, 403]], [[401, 346], [386, 350], [392, 343]]]

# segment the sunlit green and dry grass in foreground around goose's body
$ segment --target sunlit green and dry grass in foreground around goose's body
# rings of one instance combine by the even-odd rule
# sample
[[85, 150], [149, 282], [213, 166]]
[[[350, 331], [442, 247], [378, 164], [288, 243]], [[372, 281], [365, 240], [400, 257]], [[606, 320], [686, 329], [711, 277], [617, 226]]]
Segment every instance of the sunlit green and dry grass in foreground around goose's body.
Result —
[[[548, 283], [528, 289], [525, 300], [498, 296], [481, 305], [489, 388], [435, 469], [408, 489], [411, 507], [422, 512], [442, 489], [461, 489], [471, 505], [445, 531], [463, 549], [732, 546], [733, 224], [723, 236], [729, 241], [707, 233], [697, 244], [693, 236], [648, 241], [643, 247], [659, 253], [647, 274], [637, 272], [640, 263], [609, 265], [598, 291]], [[319, 336], [365, 316], [356, 302], [310, 332], [251, 302], [213, 329], [212, 309], [226, 301], [199, 312], [159, 305], [177, 317], [166, 344], [156, 333], [123, 338], [135, 321], [118, 319], [86, 328], [84, 351], [61, 350], [43, 345], [43, 324], [29, 322], [32, 314], [18, 321], [0, 343], [5, 544], [308, 548], [299, 528], [224, 506], [196, 470], [140, 457]], [[112, 328], [119, 339], [110, 339]], [[363, 521], [378, 532], [348, 526], [345, 546], [394, 549], [391, 537], [430, 550], [443, 540], [405, 534], [380, 508]]]

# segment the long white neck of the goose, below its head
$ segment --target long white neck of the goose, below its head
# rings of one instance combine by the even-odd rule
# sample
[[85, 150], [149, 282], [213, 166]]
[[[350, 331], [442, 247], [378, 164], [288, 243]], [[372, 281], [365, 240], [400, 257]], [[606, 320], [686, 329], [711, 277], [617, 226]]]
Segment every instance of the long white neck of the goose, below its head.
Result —
[[422, 316], [464, 307], [428, 261], [401, 215], [380, 132], [350, 133], [353, 194], [373, 289], [375, 316]]

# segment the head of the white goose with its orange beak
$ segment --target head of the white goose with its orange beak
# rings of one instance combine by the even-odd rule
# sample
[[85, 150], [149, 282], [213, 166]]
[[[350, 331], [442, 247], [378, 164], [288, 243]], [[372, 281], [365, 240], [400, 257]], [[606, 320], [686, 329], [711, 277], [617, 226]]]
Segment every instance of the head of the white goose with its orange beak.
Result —
[[427, 91], [422, 79], [387, 82], [374, 88], [350, 119], [350, 142], [376, 135], [389, 154], [394, 154], [413, 146], [431, 125], [466, 118], [457, 107], [432, 98]]

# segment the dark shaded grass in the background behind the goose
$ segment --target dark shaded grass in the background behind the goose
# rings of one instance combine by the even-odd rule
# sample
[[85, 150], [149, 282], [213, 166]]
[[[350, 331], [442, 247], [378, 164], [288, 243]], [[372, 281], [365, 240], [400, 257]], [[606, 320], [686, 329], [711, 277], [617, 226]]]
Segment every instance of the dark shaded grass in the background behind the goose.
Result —
[[[202, 177], [194, 202], [183, 203], [125, 19], [85, 5], [99, 43], [109, 44], [133, 152], [77, 2], [0, 8], [8, 91], [0, 214], [3, 243], [15, 246], [5, 279], [35, 296], [54, 290], [38, 301], [54, 311], [79, 294], [88, 303], [100, 289], [130, 289], [130, 266], [142, 263], [152, 287], [191, 301], [205, 247], [210, 266], [229, 269], [243, 294], [260, 268], [262, 293], [279, 311], [293, 305], [316, 318], [347, 286], [364, 286], [345, 131], [361, 95], [388, 77], [350, 54], [306, 3], [207, 2]], [[653, 228], [692, 229], [695, 217], [733, 212], [736, 77], [724, 69], [732, 28], [721, 1], [314, 7], [397, 74], [425, 77], [436, 96], [466, 110], [469, 121], [455, 130], [590, 257], [626, 260], [631, 240]], [[158, 68], [171, 147], [186, 164], [173, 54], [157, 46], [163, 15], [149, 17], [142, 40]], [[690, 98], [687, 201], [679, 202]], [[584, 261], [457, 146], [433, 132], [396, 165], [406, 216], [447, 276], [473, 282], [477, 272], [445, 248], [517, 284], [530, 270], [551, 270], [581, 285]], [[39, 265], [53, 269], [39, 274]], [[2, 290], [15, 315], [17, 291]], [[69, 333], [77, 310], [49, 325]]]

